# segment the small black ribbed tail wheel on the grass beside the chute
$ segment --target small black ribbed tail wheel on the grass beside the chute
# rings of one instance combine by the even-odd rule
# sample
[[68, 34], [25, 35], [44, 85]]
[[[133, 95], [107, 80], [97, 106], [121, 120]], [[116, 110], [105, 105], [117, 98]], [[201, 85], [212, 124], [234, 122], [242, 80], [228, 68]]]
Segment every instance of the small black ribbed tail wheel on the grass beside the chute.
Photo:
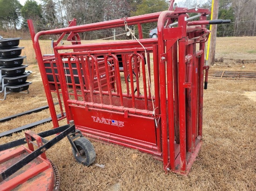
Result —
[[74, 158], [77, 162], [82, 163], [85, 166], [91, 165], [96, 159], [96, 153], [93, 144], [86, 138], [80, 137], [74, 141], [80, 156], [76, 155], [76, 151], [72, 148]]

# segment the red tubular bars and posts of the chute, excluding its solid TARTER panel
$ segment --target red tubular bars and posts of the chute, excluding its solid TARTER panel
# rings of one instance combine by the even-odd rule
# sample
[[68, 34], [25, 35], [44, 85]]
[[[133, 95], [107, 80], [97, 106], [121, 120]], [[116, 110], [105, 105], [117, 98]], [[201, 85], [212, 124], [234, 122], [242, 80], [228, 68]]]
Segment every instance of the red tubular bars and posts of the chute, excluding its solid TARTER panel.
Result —
[[[49, 34], [70, 34], [70, 36], [75, 36], [76, 39], [79, 40], [78, 32], [87, 32], [94, 31], [100, 29], [107, 29], [113, 27], [124, 26], [124, 21], [128, 23], [128, 25], [138, 25], [139, 31], [142, 31], [141, 24], [157, 21], [158, 27], [158, 39], [140, 39], [139, 41], [145, 46], [147, 49], [147, 55], [149, 57], [149, 52], [153, 53], [153, 61], [154, 61], [154, 88], [155, 88], [155, 96], [151, 95], [150, 89], [148, 87], [147, 93], [147, 83], [146, 83], [146, 67], [144, 63], [145, 54], [143, 49], [138, 45], [138, 42], [135, 40], [132, 41], [123, 41], [123, 42], [114, 42], [114, 43], [99, 43], [93, 45], [82, 45], [79, 42], [74, 45], [65, 45], [65, 46], [57, 46], [60, 42], [60, 39], [54, 45], [54, 57], [56, 62], [56, 67], [58, 70], [58, 75], [60, 78], [59, 85], [61, 86], [61, 93], [63, 95], [64, 107], [67, 112], [67, 121], [73, 120], [73, 116], [71, 115], [71, 108], [74, 107], [84, 107], [86, 110], [109, 110], [111, 112], [121, 112], [124, 113], [124, 116], [132, 116], [132, 115], [141, 115], [145, 117], [154, 116], [155, 118], [155, 134], [156, 134], [156, 146], [153, 146], [152, 149], [149, 149], [150, 145], [141, 144], [139, 140], [133, 142], [129, 138], [123, 139], [118, 138], [118, 136], [111, 135], [111, 141], [108, 138], [101, 137], [101, 133], [98, 134], [97, 131], [89, 130], [86, 127], [79, 127], [84, 129], [84, 134], [88, 136], [99, 139], [103, 141], [110, 141], [112, 143], [117, 143], [123, 146], [128, 146], [131, 148], [139, 149], [143, 152], [154, 154], [162, 158], [163, 160], [163, 169], [165, 171], [173, 171], [181, 174], [187, 174], [193, 161], [195, 160], [195, 156], [199, 152], [201, 143], [198, 144], [198, 140], [202, 140], [202, 83], [203, 83], [203, 61], [204, 61], [204, 43], [205, 39], [209, 33], [206, 29], [198, 28], [197, 26], [187, 27], [188, 20], [185, 17], [188, 17], [186, 13], [201, 13], [201, 24], [205, 23], [206, 14], [209, 13], [207, 9], [199, 9], [195, 10], [187, 10], [181, 9], [180, 7], [176, 8], [175, 11], [164, 11], [159, 13], [151, 13], [147, 15], [141, 15], [131, 18], [123, 18], [116, 19], [112, 21], [105, 21], [96, 24], [88, 24], [81, 26], [70, 26], [62, 29], [54, 29], [50, 31], [42, 31], [37, 34], [33, 33], [31, 30], [31, 34], [33, 35], [33, 45], [36, 52], [36, 57], [39, 62], [40, 71], [44, 71], [44, 61], [40, 51], [39, 45], [39, 37], [41, 35], [49, 35]], [[178, 19], [178, 28], [173, 28], [176, 32], [181, 29], [181, 32], [177, 37], [170, 38], [164, 37], [165, 25], [170, 24], [174, 21], [174, 19]], [[166, 24], [167, 21], [167, 24]], [[30, 23], [30, 25], [32, 22]], [[198, 23], [197, 23], [198, 24]], [[189, 25], [192, 25], [191, 22]], [[31, 26], [30, 26], [31, 27]], [[199, 40], [196, 39], [188, 39], [188, 33], [193, 33], [195, 35], [202, 34], [199, 36]], [[200, 33], [202, 32], [202, 33]], [[205, 32], [205, 35], [203, 35]], [[180, 37], [181, 35], [181, 37]], [[75, 38], [70, 37], [70, 39], [74, 40]], [[62, 38], [61, 37], [61, 38]], [[139, 33], [139, 37], [142, 38], [142, 34]], [[195, 36], [196, 37], [196, 36]], [[69, 40], [70, 40], [69, 39]], [[166, 40], [169, 39], [169, 40]], [[206, 39], [207, 40], [207, 39]], [[195, 43], [200, 43], [200, 51], [195, 52]], [[166, 48], [168, 46], [168, 49]], [[179, 50], [177, 50], [177, 46], [179, 46]], [[128, 48], [127, 48], [128, 47]], [[61, 50], [73, 49], [72, 53], [60, 53]], [[110, 50], [110, 51], [106, 51]], [[79, 51], [79, 52], [77, 52]], [[128, 56], [128, 51], [130, 54]], [[177, 51], [179, 51], [179, 64], [177, 58]], [[127, 77], [129, 74], [131, 77], [130, 87], [129, 83], [126, 81], [127, 85], [127, 93], [123, 94], [120, 84], [120, 75], [115, 76], [115, 82], [117, 87], [114, 92], [112, 92], [111, 78], [110, 72], [115, 72], [117, 74], [119, 71], [119, 62], [116, 53], [126, 54], [122, 55], [122, 58], [125, 57], [125, 62], [129, 64], [125, 64], [123, 66], [124, 75]], [[106, 70], [106, 78], [107, 78], [107, 91], [101, 89], [101, 80], [100, 80], [100, 68], [98, 66], [98, 59], [95, 55], [107, 55], [103, 58], [103, 63]], [[201, 57], [199, 57], [201, 56]], [[68, 66], [70, 71], [71, 83], [66, 82], [65, 77], [67, 74], [64, 73], [63, 64], [60, 62], [64, 57], [68, 57]], [[78, 70], [78, 76], [80, 81], [81, 94], [78, 95], [75, 89], [74, 83], [74, 74], [71, 70], [72, 64], [70, 58], [75, 59], [76, 68]], [[77, 58], [79, 57], [79, 59]], [[113, 64], [111, 65], [114, 69], [108, 68], [108, 58], [113, 58]], [[139, 74], [139, 65], [137, 63], [137, 57], [141, 60], [142, 67], [142, 78], [143, 78], [143, 89], [144, 95], [140, 95], [140, 86], [138, 83], [139, 76], [136, 75], [137, 85], [137, 94], [135, 95], [135, 87], [134, 82], [132, 82], [133, 69], [135, 74]], [[198, 58], [199, 57], [199, 58]], [[133, 61], [135, 60], [135, 66], [133, 67]], [[64, 62], [64, 61], [63, 61]], [[80, 66], [80, 62], [82, 68]], [[92, 62], [92, 68], [90, 69], [90, 62]], [[147, 60], [147, 63], [149, 60]], [[199, 64], [198, 64], [199, 62]], [[129, 65], [129, 66], [128, 66]], [[64, 64], [65, 66], [65, 64]], [[66, 66], [65, 66], [66, 67]], [[150, 72], [150, 66], [147, 66]], [[199, 67], [199, 69], [198, 69]], [[82, 78], [83, 71], [84, 75]], [[95, 74], [97, 76], [97, 87], [99, 90], [94, 89], [94, 81], [93, 75], [95, 70]], [[198, 71], [197, 71], [198, 70]], [[166, 81], [166, 72], [167, 72], [167, 81]], [[125, 77], [125, 79], [126, 79]], [[83, 79], [86, 84], [89, 86], [89, 90], [84, 89]], [[43, 83], [48, 83], [46, 76], [42, 75]], [[151, 79], [149, 78], [150, 82]], [[149, 84], [149, 83], [148, 83]], [[73, 87], [74, 93], [68, 93], [68, 85]], [[198, 87], [199, 85], [199, 87]], [[148, 85], [149, 86], [149, 85]], [[56, 87], [56, 84], [55, 84]], [[47, 95], [50, 95], [49, 99], [52, 99], [51, 92], [46, 88]], [[129, 91], [131, 91], [129, 93]], [[84, 94], [90, 94], [91, 100], [88, 101], [87, 97]], [[69, 95], [73, 95], [75, 100], [70, 99]], [[94, 95], [98, 95], [100, 98], [100, 102], [94, 102]], [[83, 101], [79, 101], [78, 97], [82, 96]], [[104, 104], [104, 96], [109, 96], [109, 104]], [[113, 105], [114, 101], [113, 96], [117, 96], [120, 99], [121, 107]], [[148, 110], [148, 99], [152, 96], [155, 104], [155, 111]], [[47, 97], [48, 98], [48, 97]], [[131, 99], [132, 107], [124, 107], [123, 99]], [[98, 99], [98, 98], [97, 98]], [[137, 100], [144, 99], [144, 108], [138, 109], [136, 108]], [[186, 102], [187, 100], [187, 102]], [[198, 100], [198, 107], [197, 107]], [[186, 104], [187, 103], [187, 104]], [[197, 109], [198, 108], [198, 109]], [[188, 114], [191, 113], [191, 116]], [[54, 113], [54, 109], [51, 112]], [[127, 114], [128, 113], [128, 114]], [[53, 116], [53, 115], [52, 115]], [[196, 118], [196, 119], [195, 119]], [[56, 124], [54, 124], [56, 127]], [[168, 133], [169, 132], [169, 133]], [[96, 135], [96, 133], [98, 135]], [[107, 136], [107, 134], [106, 134]], [[137, 144], [141, 144], [142, 147], [136, 146]], [[149, 146], [149, 147], [148, 147]], [[191, 153], [188, 155], [188, 152]], [[162, 155], [162, 156], [161, 156]], [[187, 165], [188, 164], [188, 165]]]

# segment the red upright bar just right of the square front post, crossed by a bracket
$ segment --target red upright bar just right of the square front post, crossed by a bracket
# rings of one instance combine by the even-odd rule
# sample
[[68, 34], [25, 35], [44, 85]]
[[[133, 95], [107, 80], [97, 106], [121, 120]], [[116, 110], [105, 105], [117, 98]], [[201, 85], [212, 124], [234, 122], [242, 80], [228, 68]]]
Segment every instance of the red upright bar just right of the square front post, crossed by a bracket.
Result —
[[[193, 54], [193, 45], [188, 45], [188, 55]], [[187, 63], [187, 83], [192, 83], [193, 59]], [[186, 136], [187, 136], [187, 152], [191, 153], [192, 146], [192, 87], [186, 89]]]

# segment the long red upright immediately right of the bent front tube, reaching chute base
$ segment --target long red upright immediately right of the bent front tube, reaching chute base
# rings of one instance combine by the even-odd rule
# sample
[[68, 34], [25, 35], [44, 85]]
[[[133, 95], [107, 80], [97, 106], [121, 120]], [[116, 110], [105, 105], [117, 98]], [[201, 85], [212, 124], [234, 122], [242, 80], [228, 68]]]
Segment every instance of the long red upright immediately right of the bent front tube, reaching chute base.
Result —
[[[167, 41], [166, 49], [169, 50]], [[167, 98], [168, 98], [168, 130], [169, 130], [169, 152], [171, 170], [175, 170], [175, 125], [174, 125], [174, 98], [173, 98], [173, 51], [172, 48], [166, 52], [167, 55]]]

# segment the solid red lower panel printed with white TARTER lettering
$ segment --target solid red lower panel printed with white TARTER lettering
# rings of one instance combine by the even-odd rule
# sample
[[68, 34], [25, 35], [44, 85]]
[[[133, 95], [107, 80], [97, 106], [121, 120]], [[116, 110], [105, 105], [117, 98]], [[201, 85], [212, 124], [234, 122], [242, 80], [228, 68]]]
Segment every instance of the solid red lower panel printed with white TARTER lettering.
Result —
[[151, 117], [128, 116], [118, 112], [88, 110], [70, 107], [75, 125], [88, 127], [109, 134], [156, 144], [155, 121]]

